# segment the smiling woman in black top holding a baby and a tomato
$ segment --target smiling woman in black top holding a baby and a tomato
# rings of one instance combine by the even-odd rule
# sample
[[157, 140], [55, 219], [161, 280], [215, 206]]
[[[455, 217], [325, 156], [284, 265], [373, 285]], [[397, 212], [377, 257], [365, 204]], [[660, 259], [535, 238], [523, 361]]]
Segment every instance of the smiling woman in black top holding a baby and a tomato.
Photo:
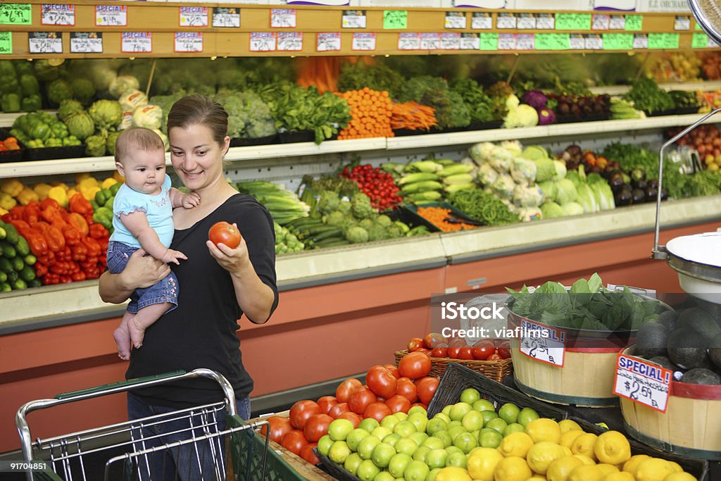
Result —
[[[225, 180], [223, 158], [230, 138], [228, 114], [221, 105], [203, 95], [183, 97], [171, 108], [167, 125], [174, 170], [185, 187], [200, 195], [200, 205], [174, 212], [170, 247], [188, 257], [172, 266], [180, 288], [178, 306], [146, 331], [143, 347], [132, 351], [125, 376], [178, 369], [218, 371], [235, 390], [239, 415], [248, 419], [253, 381], [243, 367], [236, 321], [245, 314], [262, 324], [278, 305], [273, 219], [257, 200], [237, 193]], [[241, 232], [243, 239], [235, 249], [208, 240], [208, 230], [219, 221], [236, 224]], [[136, 288], [169, 274], [167, 264], [144, 254], [142, 249], [135, 252], [122, 273], [103, 273], [103, 301], [122, 303]], [[222, 399], [216, 383], [193, 379], [128, 393], [128, 416], [144, 418]], [[224, 427], [223, 415], [218, 423]], [[175, 457], [180, 457], [174, 459], [178, 466], [188, 465], [182, 455]]]

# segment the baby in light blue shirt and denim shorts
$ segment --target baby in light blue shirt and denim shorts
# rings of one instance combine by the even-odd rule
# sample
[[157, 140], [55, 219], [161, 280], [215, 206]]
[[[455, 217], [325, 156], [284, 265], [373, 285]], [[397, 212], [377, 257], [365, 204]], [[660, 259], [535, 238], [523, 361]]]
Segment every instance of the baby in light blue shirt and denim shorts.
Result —
[[[200, 204], [197, 193], [181, 193], [170, 187], [165, 174], [165, 149], [161, 138], [146, 128], [129, 128], [115, 142], [115, 167], [125, 183], [115, 195], [112, 226], [107, 246], [107, 268], [120, 273], [133, 252], [143, 248], [163, 262], [180, 264], [187, 259], [169, 248], [174, 234], [174, 208]], [[145, 330], [165, 312], [177, 307], [178, 284], [174, 273], [148, 288], [136, 289], [120, 326], [112, 333], [118, 356], [128, 361], [131, 343], [143, 345]]]

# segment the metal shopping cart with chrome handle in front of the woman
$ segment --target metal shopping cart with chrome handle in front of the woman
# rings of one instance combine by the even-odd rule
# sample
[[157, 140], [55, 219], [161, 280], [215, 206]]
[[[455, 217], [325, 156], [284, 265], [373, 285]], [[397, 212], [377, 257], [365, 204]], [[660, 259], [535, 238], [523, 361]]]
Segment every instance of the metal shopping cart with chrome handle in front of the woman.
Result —
[[[28, 413], [49, 407], [155, 386], [181, 379], [208, 378], [224, 392], [224, 402], [201, 405], [34, 442]], [[25, 462], [44, 461], [44, 469], [26, 470], [32, 481], [164, 480], [302, 480], [303, 478], [268, 450], [268, 438], [255, 430], [267, 421], [245, 423], [236, 412], [233, 388], [221, 374], [209, 369], [151, 376], [58, 394], [54, 399], [27, 402], [15, 423]], [[226, 416], [226, 428], [218, 426]], [[163, 431], [162, 435], [158, 434]], [[169, 436], [182, 439], [166, 442]], [[176, 465], [173, 459], [187, 459]], [[269, 462], [270, 460], [270, 462]], [[100, 461], [100, 462], [98, 462]], [[103, 462], [105, 467], [102, 467]], [[35, 463], [37, 465], [37, 463]], [[93, 471], [94, 469], [94, 471]]]

